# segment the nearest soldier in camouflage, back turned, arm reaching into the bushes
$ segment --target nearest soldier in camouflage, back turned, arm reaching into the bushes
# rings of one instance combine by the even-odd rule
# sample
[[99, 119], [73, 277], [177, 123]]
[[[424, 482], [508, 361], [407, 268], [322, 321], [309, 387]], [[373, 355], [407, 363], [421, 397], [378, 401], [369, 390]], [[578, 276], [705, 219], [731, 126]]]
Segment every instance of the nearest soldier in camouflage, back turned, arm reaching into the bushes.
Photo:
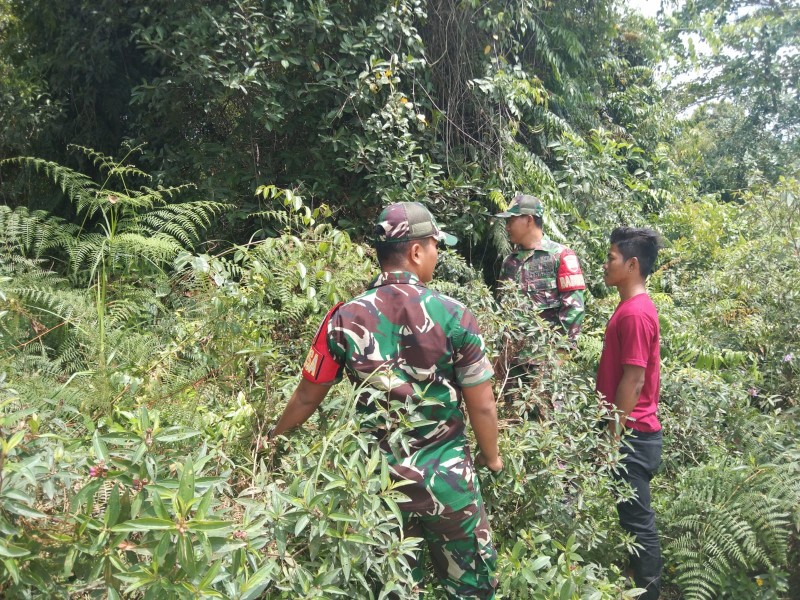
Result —
[[[408, 451], [389, 447], [388, 423], [378, 439], [392, 478], [411, 482], [401, 488], [409, 498], [400, 504], [405, 534], [426, 540], [449, 597], [492, 598], [496, 553], [474, 464], [495, 472], [503, 466], [493, 370], [472, 313], [425, 286], [437, 242], [455, 238], [416, 202], [384, 209], [375, 233], [382, 272], [363, 294], [328, 313], [270, 437], [305, 422], [343, 371], [404, 403], [427, 423], [411, 430]], [[480, 448], [474, 463], [464, 406]], [[375, 410], [367, 398], [358, 407]], [[415, 574], [421, 575], [419, 564]]]

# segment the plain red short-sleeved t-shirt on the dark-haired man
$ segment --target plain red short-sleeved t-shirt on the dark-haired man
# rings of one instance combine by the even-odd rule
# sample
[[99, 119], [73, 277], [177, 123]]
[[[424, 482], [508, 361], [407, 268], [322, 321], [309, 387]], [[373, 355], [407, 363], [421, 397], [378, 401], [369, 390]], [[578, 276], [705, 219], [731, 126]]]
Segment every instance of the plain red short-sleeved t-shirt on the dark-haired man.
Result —
[[597, 368], [597, 391], [613, 406], [623, 365], [644, 367], [644, 386], [626, 425], [638, 431], [659, 431], [658, 394], [661, 385], [658, 313], [647, 294], [620, 302], [606, 326], [603, 354]]

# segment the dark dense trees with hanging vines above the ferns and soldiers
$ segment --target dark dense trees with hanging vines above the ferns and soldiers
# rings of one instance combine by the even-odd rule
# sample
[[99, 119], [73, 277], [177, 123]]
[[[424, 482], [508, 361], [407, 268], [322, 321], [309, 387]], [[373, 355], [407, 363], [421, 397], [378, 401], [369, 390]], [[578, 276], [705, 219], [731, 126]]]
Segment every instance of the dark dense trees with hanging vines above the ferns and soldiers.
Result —
[[[608, 1], [112, 4], [8, 6], [0, 42], [15, 73], [65, 108], [23, 153], [66, 164], [67, 143], [112, 154], [146, 142], [156, 181], [188, 179], [236, 207], [220, 237], [239, 243], [252, 192], [270, 181], [324, 199], [359, 235], [379, 204], [423, 200], [463, 246], [493, 253], [490, 190], [540, 194], [559, 214], [582, 206], [560, 187], [551, 143], [604, 128], [653, 149], [634, 138], [666, 130], [652, 29]], [[89, 41], [102, 61], [80, 51]], [[593, 204], [619, 190], [611, 179]], [[51, 204], [19, 170], [0, 183], [15, 204]]]

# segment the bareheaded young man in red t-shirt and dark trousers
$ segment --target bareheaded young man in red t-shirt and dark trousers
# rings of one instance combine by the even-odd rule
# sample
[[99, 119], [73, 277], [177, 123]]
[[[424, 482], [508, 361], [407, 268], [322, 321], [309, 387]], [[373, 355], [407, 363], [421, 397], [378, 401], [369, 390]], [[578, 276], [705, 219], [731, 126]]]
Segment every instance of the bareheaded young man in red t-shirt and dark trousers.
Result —
[[652, 229], [618, 227], [603, 265], [606, 285], [616, 287], [620, 303], [606, 327], [603, 353], [597, 369], [597, 391], [615, 418], [608, 423], [616, 439], [627, 430], [618, 476], [636, 491], [636, 498], [617, 504], [620, 525], [641, 546], [631, 555], [639, 598], [656, 600], [661, 588], [661, 547], [655, 513], [650, 507], [650, 480], [661, 463], [661, 423], [658, 422], [660, 387], [658, 313], [645, 289], [653, 271], [659, 236]]

